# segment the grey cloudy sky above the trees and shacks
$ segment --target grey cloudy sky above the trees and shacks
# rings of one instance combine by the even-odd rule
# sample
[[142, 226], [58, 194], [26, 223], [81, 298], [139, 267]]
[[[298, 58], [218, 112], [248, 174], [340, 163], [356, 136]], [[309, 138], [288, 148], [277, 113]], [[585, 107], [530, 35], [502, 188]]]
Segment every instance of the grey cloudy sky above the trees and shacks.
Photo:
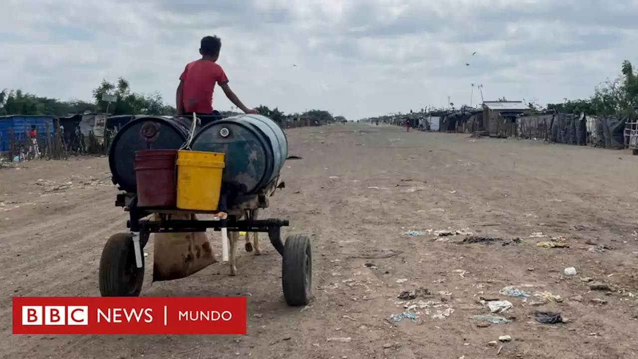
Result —
[[[472, 83], [485, 100], [583, 98], [638, 62], [638, 0], [2, 0], [0, 13], [0, 86], [63, 100], [122, 76], [174, 104], [209, 34], [249, 107], [349, 119], [476, 105]], [[214, 106], [230, 109], [223, 92]]]

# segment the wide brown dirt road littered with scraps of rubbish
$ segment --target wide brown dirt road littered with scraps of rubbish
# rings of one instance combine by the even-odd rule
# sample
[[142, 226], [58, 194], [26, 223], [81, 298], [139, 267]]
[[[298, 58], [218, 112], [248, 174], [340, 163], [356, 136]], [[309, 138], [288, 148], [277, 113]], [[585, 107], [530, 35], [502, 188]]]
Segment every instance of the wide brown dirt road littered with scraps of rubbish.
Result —
[[[281, 258], [267, 244], [261, 257], [239, 246], [237, 277], [213, 264], [187, 279], [151, 285], [147, 266], [142, 295], [247, 295], [248, 335], [239, 337], [11, 335], [11, 296], [99, 295], [101, 249], [125, 229], [126, 215], [114, 207], [106, 158], [0, 169], [0, 357], [611, 359], [638, 353], [638, 157], [391, 126], [301, 128], [288, 137], [291, 155], [303, 159], [286, 163], [286, 188], [260, 217], [289, 218], [287, 233], [311, 235], [311, 306], [283, 303]], [[459, 244], [464, 235], [438, 236], [443, 229], [503, 240]], [[570, 247], [537, 246], [551, 238]], [[564, 275], [566, 267], [577, 275]], [[597, 282], [610, 289], [591, 290]], [[530, 298], [500, 294], [506, 286]], [[430, 294], [417, 293], [410, 303], [397, 299], [418, 288]], [[498, 315], [513, 322], [486, 326], [470, 319], [490, 312], [480, 297], [512, 303]], [[560, 312], [568, 323], [537, 323], [533, 310]], [[390, 319], [403, 312], [420, 314], [414, 321]], [[501, 335], [512, 341], [499, 342]], [[350, 342], [327, 340], [346, 337]]]

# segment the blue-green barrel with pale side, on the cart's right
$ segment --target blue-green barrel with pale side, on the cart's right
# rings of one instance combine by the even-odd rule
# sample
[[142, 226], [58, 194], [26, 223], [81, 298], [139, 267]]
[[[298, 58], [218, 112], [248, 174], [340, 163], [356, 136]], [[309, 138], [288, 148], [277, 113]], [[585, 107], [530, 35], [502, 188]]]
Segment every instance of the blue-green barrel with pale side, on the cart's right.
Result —
[[288, 139], [265, 116], [245, 114], [202, 127], [191, 144], [194, 151], [225, 154], [222, 182], [237, 194], [256, 194], [281, 172], [288, 157]]

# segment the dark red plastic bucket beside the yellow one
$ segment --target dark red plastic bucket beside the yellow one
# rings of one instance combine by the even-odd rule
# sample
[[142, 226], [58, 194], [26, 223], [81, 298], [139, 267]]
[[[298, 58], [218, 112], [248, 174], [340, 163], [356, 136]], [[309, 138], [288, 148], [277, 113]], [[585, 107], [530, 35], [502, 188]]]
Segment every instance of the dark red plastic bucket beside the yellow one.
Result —
[[135, 152], [138, 206], [174, 207], [177, 204], [176, 160], [177, 149], [143, 149]]

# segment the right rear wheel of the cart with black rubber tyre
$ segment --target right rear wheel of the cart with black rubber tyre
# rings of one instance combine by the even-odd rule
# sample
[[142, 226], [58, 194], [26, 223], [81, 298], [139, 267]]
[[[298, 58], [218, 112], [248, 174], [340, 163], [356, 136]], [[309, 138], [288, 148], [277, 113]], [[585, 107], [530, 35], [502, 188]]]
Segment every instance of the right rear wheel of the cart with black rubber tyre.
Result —
[[310, 238], [288, 236], [281, 264], [281, 287], [286, 303], [292, 307], [308, 305], [313, 297], [313, 252]]

